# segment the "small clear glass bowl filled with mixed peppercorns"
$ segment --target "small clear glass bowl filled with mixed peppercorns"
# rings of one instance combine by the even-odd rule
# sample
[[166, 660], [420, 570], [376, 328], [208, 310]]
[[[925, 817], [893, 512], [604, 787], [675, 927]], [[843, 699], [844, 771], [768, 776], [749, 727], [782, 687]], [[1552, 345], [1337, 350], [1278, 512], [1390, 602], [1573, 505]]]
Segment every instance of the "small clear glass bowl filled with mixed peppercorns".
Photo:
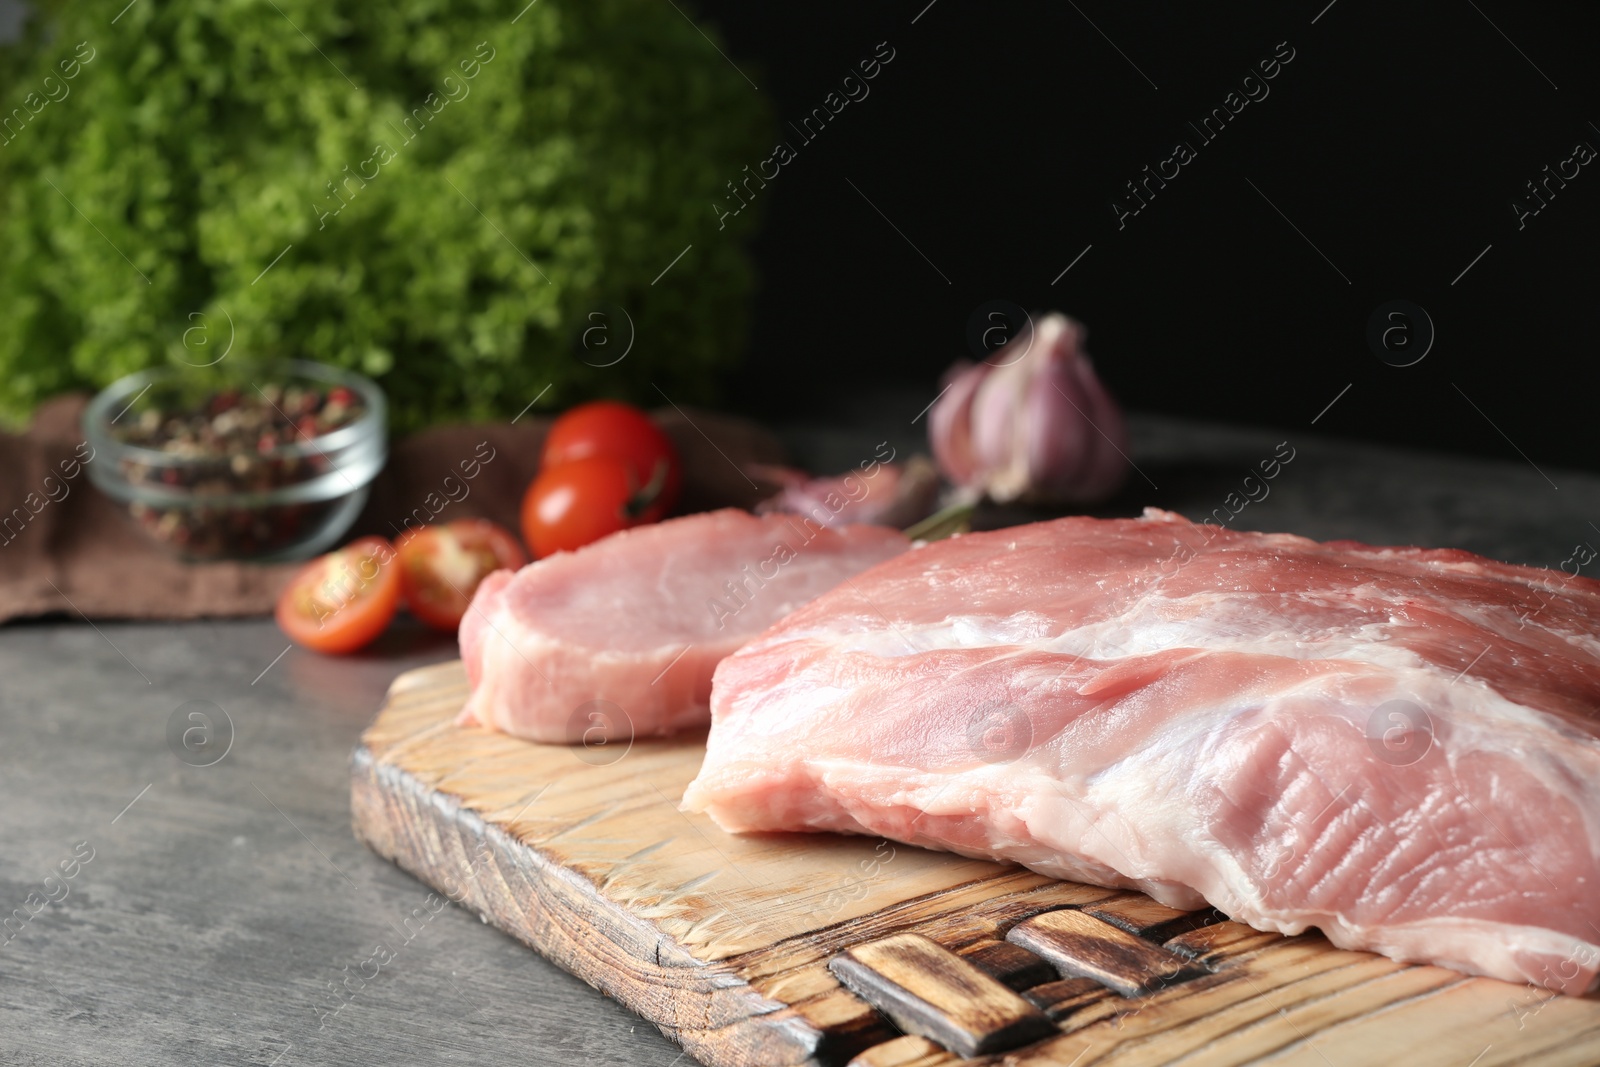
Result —
[[189, 560], [299, 560], [355, 522], [387, 459], [376, 382], [322, 363], [162, 366], [83, 411], [90, 480]]

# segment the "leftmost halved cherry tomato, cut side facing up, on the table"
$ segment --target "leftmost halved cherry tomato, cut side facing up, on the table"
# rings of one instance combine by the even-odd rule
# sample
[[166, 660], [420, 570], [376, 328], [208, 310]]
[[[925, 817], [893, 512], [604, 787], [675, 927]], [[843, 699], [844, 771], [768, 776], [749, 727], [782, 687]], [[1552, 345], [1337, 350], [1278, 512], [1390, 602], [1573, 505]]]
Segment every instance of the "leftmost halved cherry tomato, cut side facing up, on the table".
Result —
[[278, 597], [278, 625], [318, 653], [370, 645], [400, 606], [394, 558], [394, 545], [382, 537], [360, 537], [312, 560]]

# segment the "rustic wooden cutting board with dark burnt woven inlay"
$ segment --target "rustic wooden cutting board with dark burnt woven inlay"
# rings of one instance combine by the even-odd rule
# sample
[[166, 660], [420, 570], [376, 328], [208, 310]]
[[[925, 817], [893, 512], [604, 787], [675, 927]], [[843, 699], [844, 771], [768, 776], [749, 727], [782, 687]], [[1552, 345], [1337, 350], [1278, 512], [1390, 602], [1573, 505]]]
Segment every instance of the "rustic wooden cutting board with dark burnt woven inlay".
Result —
[[464, 699], [459, 662], [395, 680], [357, 835], [714, 1067], [1600, 1062], [1592, 997], [891, 841], [733, 837], [678, 811], [702, 739], [536, 745], [456, 726]]

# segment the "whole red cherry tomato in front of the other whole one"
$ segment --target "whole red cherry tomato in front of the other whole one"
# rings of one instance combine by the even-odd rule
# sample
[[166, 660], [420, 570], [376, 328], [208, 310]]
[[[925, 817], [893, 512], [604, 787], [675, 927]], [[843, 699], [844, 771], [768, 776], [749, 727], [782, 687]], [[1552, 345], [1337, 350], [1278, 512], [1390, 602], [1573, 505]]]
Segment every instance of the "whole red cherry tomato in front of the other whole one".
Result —
[[539, 558], [581, 549], [618, 530], [654, 522], [658, 494], [659, 485], [638, 485], [621, 459], [597, 456], [546, 467], [522, 499], [522, 536]]

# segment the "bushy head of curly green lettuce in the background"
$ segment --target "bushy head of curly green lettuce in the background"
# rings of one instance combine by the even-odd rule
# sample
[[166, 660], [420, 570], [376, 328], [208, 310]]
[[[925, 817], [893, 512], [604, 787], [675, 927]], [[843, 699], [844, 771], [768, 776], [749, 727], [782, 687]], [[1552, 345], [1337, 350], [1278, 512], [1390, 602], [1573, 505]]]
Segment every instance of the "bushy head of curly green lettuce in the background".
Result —
[[771, 117], [674, 5], [118, 8], [0, 50], [0, 419], [222, 352], [371, 374], [398, 429], [704, 402], [736, 358], [712, 203]]

